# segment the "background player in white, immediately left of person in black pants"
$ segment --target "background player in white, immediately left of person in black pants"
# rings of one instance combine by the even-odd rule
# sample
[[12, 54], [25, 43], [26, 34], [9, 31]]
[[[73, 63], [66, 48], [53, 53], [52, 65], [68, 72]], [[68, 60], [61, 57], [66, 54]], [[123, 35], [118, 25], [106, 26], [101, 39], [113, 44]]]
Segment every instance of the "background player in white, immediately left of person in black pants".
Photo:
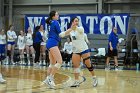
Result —
[[30, 54], [32, 54], [33, 63], [35, 59], [35, 54], [34, 54], [34, 48], [33, 48], [32, 31], [30, 27], [28, 28], [28, 32], [26, 34], [26, 52], [27, 52], [28, 65], [31, 65]]

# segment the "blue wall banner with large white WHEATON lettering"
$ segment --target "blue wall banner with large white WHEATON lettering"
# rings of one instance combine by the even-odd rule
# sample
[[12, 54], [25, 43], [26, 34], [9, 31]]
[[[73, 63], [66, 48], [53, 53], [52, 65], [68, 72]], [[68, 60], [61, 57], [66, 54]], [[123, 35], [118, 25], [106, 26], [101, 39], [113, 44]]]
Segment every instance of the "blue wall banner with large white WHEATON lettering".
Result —
[[[75, 16], [79, 18], [79, 25], [84, 27], [85, 33], [110, 34], [112, 28], [117, 27], [118, 34], [126, 35], [128, 30], [129, 14], [67, 14], [59, 16], [61, 31], [67, 29], [67, 24]], [[43, 25], [47, 31], [47, 18], [48, 15], [25, 15], [25, 31], [28, 27], [33, 31], [38, 25]]]

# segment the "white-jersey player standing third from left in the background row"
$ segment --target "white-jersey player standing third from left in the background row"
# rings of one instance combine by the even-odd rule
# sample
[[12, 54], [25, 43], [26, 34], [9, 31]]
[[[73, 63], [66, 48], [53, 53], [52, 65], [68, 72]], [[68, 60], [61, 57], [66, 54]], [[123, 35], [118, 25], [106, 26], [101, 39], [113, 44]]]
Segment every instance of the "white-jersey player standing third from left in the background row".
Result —
[[18, 36], [17, 46], [20, 53], [21, 64], [25, 64], [25, 61], [24, 61], [25, 36], [22, 30], [20, 31], [20, 35]]

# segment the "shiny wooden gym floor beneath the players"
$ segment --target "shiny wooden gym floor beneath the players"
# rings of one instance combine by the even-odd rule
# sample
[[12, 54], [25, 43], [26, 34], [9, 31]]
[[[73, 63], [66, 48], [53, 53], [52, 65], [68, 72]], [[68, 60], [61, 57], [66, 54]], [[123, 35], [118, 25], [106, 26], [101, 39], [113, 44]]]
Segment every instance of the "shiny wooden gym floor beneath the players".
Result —
[[84, 75], [86, 80], [80, 87], [70, 88], [73, 70], [61, 68], [55, 75], [56, 89], [49, 89], [47, 85], [42, 84], [46, 77], [46, 69], [34, 69], [32, 66], [1, 66], [7, 82], [0, 84], [0, 93], [140, 93], [140, 72], [135, 70], [95, 69], [98, 86], [93, 87], [90, 73], [87, 69], [82, 69], [81, 75]]

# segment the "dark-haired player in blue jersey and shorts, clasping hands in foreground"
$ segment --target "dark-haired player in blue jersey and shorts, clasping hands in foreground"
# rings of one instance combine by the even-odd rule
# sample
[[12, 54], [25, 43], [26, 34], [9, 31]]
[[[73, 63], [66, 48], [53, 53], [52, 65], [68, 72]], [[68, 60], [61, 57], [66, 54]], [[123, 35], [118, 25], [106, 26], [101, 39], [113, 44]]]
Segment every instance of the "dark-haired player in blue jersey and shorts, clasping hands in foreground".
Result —
[[[48, 27], [48, 40], [46, 47], [49, 50], [50, 65], [48, 68], [48, 75], [43, 81], [48, 84], [50, 88], [55, 88], [54, 75], [59, 70], [62, 65], [62, 56], [58, 48], [58, 43], [60, 42], [60, 25], [58, 23], [59, 14], [56, 11], [51, 11], [48, 19], [46, 20]], [[68, 29], [67, 31], [71, 31]]]

